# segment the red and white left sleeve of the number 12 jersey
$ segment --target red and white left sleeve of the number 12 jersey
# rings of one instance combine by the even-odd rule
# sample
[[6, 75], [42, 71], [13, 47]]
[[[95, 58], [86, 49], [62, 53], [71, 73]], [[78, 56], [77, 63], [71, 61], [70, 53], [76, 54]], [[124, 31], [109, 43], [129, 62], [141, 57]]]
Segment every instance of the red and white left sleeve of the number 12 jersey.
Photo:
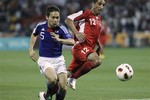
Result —
[[79, 20], [85, 19], [89, 14], [90, 14], [89, 10], [86, 10], [85, 12], [83, 12], [81, 10], [81, 11], [79, 11], [77, 13], [69, 15], [67, 18], [69, 18], [69, 19], [71, 19], [73, 21], [79, 21]]

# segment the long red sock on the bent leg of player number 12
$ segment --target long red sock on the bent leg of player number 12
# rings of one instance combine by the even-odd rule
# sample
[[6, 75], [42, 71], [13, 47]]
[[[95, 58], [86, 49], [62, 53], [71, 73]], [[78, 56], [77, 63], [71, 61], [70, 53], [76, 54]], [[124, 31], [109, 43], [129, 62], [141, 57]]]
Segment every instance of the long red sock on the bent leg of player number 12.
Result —
[[87, 61], [71, 76], [71, 78], [77, 79], [95, 67], [96, 65], [92, 61]]

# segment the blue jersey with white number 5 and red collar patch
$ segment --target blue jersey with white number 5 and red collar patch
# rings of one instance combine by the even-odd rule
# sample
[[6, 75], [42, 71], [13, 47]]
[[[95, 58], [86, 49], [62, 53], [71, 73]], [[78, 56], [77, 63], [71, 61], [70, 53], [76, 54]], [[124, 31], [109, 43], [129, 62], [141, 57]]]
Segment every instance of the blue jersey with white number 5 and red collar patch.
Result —
[[39, 56], [58, 57], [62, 55], [62, 43], [57, 42], [51, 37], [51, 32], [55, 32], [61, 39], [72, 38], [67, 28], [63, 25], [52, 29], [48, 27], [47, 21], [37, 24], [33, 30], [34, 36], [40, 36]]

